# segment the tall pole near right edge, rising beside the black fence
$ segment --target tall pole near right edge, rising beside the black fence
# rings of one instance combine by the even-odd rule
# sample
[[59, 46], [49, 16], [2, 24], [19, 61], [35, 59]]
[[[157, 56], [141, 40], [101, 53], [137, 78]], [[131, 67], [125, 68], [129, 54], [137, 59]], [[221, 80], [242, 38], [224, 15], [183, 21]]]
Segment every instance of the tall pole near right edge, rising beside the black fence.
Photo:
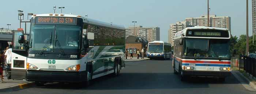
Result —
[[249, 56], [248, 0], [246, 0], [246, 56]]

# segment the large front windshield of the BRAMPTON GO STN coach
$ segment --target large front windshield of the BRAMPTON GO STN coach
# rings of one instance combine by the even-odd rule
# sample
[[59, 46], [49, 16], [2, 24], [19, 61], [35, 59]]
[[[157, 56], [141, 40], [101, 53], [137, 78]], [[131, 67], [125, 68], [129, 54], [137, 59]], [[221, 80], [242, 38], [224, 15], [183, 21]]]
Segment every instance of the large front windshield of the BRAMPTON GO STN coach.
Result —
[[30, 51], [78, 52], [81, 30], [74, 25], [31, 25]]

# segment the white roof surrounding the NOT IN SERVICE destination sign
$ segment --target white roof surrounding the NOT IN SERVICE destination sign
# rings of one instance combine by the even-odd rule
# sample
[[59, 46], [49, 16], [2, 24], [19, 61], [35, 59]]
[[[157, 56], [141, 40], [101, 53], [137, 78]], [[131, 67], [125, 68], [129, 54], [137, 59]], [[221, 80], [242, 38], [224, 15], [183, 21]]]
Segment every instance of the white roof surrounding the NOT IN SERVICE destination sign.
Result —
[[[187, 33], [187, 30], [189, 29], [214, 29], [214, 30], [223, 30], [223, 31], [227, 31], [229, 33], [229, 37], [189, 37], [189, 36], [186, 36], [186, 33]], [[187, 38], [215, 38], [215, 39], [230, 39], [230, 31], [229, 29], [226, 29], [226, 28], [215, 28], [215, 27], [206, 27], [206, 26], [195, 26], [195, 27], [188, 27], [188, 28], [185, 28], [177, 33], [175, 33], [175, 36], [174, 36], [174, 40], [175, 39], [178, 39], [178, 38], [181, 38], [182, 36], [184, 37], [187, 37]]]

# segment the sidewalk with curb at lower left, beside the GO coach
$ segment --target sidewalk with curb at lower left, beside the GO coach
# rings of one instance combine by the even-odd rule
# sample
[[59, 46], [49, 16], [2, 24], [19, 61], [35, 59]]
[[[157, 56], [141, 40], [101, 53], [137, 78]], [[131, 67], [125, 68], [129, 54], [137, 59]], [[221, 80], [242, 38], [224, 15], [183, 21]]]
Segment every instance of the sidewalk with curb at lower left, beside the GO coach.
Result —
[[3, 74], [5, 83], [0, 82], [0, 92], [20, 90], [33, 85], [33, 82], [28, 82], [26, 80], [8, 80], [5, 75], [5, 71]]

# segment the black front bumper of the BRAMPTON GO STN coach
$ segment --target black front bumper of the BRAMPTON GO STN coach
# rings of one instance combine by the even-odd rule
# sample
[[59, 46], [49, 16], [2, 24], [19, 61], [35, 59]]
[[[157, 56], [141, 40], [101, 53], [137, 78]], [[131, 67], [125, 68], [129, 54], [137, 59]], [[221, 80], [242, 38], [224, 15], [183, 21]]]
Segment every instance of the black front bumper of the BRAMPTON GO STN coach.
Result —
[[27, 81], [40, 82], [82, 82], [86, 72], [27, 70]]

